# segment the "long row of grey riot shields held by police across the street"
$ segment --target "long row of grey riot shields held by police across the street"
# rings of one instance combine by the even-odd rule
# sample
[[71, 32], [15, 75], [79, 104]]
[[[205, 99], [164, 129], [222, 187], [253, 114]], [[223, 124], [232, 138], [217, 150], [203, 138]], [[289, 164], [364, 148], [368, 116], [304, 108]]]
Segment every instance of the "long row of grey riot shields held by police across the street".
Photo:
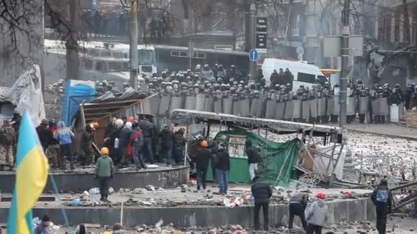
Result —
[[[145, 113], [154, 116], [168, 116], [174, 109], [190, 109], [316, 124], [338, 122], [340, 112], [339, 97], [326, 90], [323, 94], [292, 93], [292, 96], [291, 93], [282, 92], [257, 93], [254, 96], [229, 95], [227, 92], [194, 95], [158, 94], [145, 99], [143, 107]], [[361, 123], [384, 123], [390, 121], [391, 116], [396, 121], [405, 116], [404, 103], [389, 105], [388, 98], [378, 94], [350, 95], [347, 99], [346, 115], [348, 123], [357, 117]]]

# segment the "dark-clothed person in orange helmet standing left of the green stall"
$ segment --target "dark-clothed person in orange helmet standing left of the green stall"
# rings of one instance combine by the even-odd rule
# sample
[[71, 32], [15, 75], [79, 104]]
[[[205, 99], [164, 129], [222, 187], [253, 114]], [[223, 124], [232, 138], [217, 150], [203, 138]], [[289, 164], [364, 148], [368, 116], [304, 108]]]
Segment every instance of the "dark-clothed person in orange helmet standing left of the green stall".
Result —
[[210, 151], [207, 148], [208, 143], [203, 140], [198, 148], [195, 158], [195, 164], [197, 167], [197, 190], [200, 191], [201, 186], [203, 190], [206, 189], [206, 174], [208, 168], [208, 161], [210, 161]]

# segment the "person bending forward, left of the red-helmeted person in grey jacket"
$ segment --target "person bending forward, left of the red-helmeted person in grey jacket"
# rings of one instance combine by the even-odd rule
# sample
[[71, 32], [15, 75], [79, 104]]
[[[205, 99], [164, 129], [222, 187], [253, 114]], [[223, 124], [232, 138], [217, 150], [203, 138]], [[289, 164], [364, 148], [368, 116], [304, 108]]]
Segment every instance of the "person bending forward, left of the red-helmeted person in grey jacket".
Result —
[[294, 222], [294, 216], [298, 216], [301, 219], [302, 228], [307, 231], [307, 222], [305, 220], [305, 208], [309, 202], [309, 194], [297, 193], [291, 196], [289, 199], [289, 220], [288, 229], [292, 229]]

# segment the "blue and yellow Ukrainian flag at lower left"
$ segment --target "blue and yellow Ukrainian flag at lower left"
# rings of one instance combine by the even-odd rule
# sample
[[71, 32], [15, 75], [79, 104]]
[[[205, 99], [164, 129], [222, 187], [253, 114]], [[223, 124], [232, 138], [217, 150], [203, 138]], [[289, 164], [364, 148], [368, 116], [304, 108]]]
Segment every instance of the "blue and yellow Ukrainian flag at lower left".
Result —
[[16, 182], [7, 233], [33, 233], [32, 207], [47, 183], [49, 167], [27, 111], [23, 112], [16, 155]]

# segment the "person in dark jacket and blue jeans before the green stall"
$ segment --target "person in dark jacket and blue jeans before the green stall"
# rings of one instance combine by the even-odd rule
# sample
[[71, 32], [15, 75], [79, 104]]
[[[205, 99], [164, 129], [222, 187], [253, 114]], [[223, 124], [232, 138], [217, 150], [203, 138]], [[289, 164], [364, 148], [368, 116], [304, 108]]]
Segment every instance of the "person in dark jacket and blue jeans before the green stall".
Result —
[[226, 151], [226, 145], [219, 144], [219, 151], [217, 152], [217, 165], [216, 165], [217, 181], [219, 181], [220, 194], [227, 194], [228, 180], [227, 174], [230, 171], [230, 157]]

